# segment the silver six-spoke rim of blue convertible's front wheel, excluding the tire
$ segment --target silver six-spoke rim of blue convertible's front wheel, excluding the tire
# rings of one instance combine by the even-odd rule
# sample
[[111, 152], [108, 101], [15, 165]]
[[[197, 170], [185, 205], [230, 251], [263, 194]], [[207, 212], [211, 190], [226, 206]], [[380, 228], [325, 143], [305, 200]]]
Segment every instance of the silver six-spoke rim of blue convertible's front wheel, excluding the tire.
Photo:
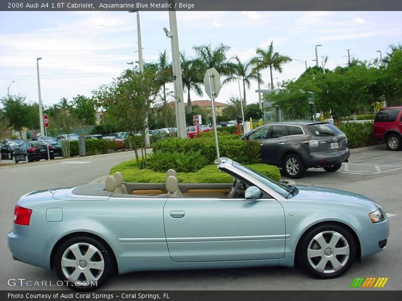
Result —
[[336, 231], [323, 231], [310, 241], [307, 258], [317, 272], [330, 274], [341, 270], [348, 262], [350, 254], [346, 238]]

